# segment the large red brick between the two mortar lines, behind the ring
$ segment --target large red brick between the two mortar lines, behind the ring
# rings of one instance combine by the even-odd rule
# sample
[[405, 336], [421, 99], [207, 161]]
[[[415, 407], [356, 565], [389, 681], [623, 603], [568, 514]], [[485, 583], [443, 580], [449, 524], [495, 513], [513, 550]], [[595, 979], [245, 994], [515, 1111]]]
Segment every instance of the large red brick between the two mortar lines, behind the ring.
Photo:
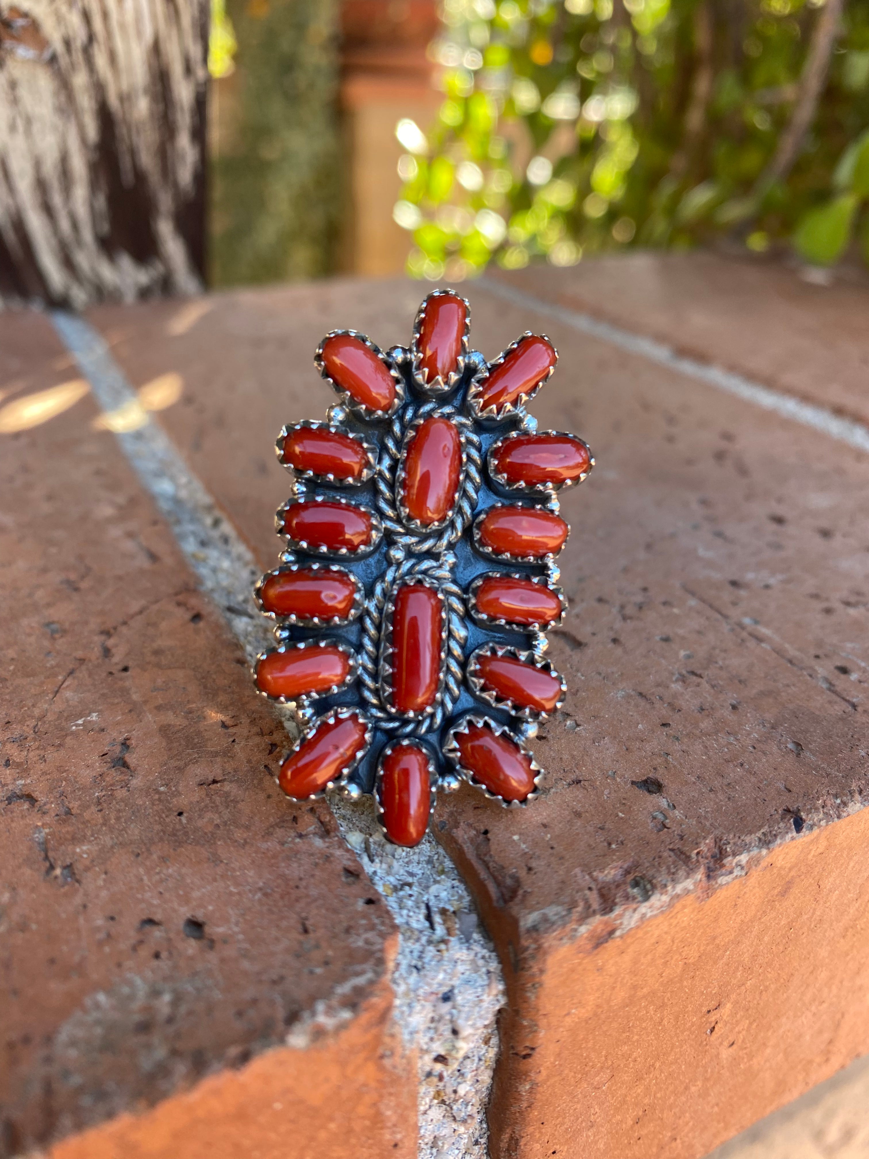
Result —
[[[514, 284], [541, 294], [554, 277]], [[619, 285], [608, 264], [600, 277]], [[765, 283], [742, 286], [759, 335]], [[699, 1159], [869, 1047], [853, 1016], [866, 823], [848, 817], [869, 790], [869, 462], [482, 286], [469, 296], [487, 357], [526, 328], [555, 341], [531, 409], [598, 461], [562, 508], [571, 612], [549, 656], [570, 691], [533, 745], [542, 799], [505, 814], [468, 789], [438, 807], [510, 990], [492, 1154]], [[285, 484], [251, 464], [282, 422], [331, 401], [314, 393], [316, 342], [336, 326], [407, 341], [418, 297], [406, 283], [226, 296], [162, 348], [176, 306], [94, 318], [134, 381], [185, 376], [163, 421], [270, 559]], [[614, 320], [634, 325], [615, 299]], [[856, 291], [842, 309], [862, 309]], [[810, 313], [773, 311], [776, 349], [802, 341]], [[744, 348], [732, 316], [706, 327], [694, 353]], [[787, 365], [767, 370], [793, 388]]]

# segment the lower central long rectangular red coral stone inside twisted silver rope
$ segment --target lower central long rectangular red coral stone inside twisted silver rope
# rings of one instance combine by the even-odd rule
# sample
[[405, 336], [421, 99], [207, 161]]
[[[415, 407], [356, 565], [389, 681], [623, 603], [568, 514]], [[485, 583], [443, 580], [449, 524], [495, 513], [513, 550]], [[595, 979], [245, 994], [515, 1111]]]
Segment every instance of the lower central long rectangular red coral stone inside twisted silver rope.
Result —
[[440, 595], [410, 583], [393, 611], [393, 706], [400, 713], [428, 708], [440, 681]]

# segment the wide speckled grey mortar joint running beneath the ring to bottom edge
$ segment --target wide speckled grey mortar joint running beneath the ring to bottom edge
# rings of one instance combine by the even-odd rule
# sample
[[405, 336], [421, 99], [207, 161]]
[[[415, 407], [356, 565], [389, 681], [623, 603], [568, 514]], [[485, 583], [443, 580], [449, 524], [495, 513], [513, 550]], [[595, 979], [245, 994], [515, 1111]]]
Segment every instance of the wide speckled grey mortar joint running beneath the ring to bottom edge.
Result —
[[[101, 409], [134, 408], [136, 392], [102, 336], [75, 314], [53, 311], [50, 316]], [[275, 644], [253, 600], [262, 568], [166, 431], [139, 413], [141, 425], [116, 432], [118, 444], [253, 662]], [[292, 734], [292, 714], [278, 715]], [[496, 1019], [505, 1000], [491, 941], [459, 872], [430, 833], [414, 850], [399, 848], [380, 834], [370, 799], [365, 804], [328, 800], [399, 928], [393, 1018], [417, 1057], [418, 1159], [487, 1159]], [[287, 1045], [304, 1048], [316, 1033], [339, 1026], [346, 1012], [336, 1004], [337, 998], [292, 1027]]]

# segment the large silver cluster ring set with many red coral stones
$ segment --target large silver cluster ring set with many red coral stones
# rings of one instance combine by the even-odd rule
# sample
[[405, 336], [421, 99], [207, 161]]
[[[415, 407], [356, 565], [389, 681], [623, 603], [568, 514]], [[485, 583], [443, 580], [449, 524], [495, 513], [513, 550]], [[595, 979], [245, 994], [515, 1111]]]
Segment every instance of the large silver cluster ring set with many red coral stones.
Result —
[[565, 692], [543, 658], [567, 610], [557, 493], [594, 465], [525, 409], [552, 342], [524, 334], [487, 363], [469, 330], [466, 299], [436, 290], [409, 348], [323, 338], [314, 362], [337, 401], [278, 437], [286, 549], [254, 592], [277, 640], [257, 690], [301, 728], [278, 785], [297, 801], [373, 794], [404, 846], [462, 782], [507, 807], [538, 793], [528, 741]]

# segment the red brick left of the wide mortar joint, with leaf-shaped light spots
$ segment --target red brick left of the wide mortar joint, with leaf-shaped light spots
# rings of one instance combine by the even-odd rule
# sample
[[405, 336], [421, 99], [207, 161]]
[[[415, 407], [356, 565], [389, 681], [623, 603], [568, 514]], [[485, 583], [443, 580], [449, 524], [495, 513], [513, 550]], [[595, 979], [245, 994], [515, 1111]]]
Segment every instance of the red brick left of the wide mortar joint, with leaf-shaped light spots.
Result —
[[[0, 318], [0, 389], [70, 374]], [[415, 1154], [392, 919], [95, 415], [0, 435], [0, 1150]]]

